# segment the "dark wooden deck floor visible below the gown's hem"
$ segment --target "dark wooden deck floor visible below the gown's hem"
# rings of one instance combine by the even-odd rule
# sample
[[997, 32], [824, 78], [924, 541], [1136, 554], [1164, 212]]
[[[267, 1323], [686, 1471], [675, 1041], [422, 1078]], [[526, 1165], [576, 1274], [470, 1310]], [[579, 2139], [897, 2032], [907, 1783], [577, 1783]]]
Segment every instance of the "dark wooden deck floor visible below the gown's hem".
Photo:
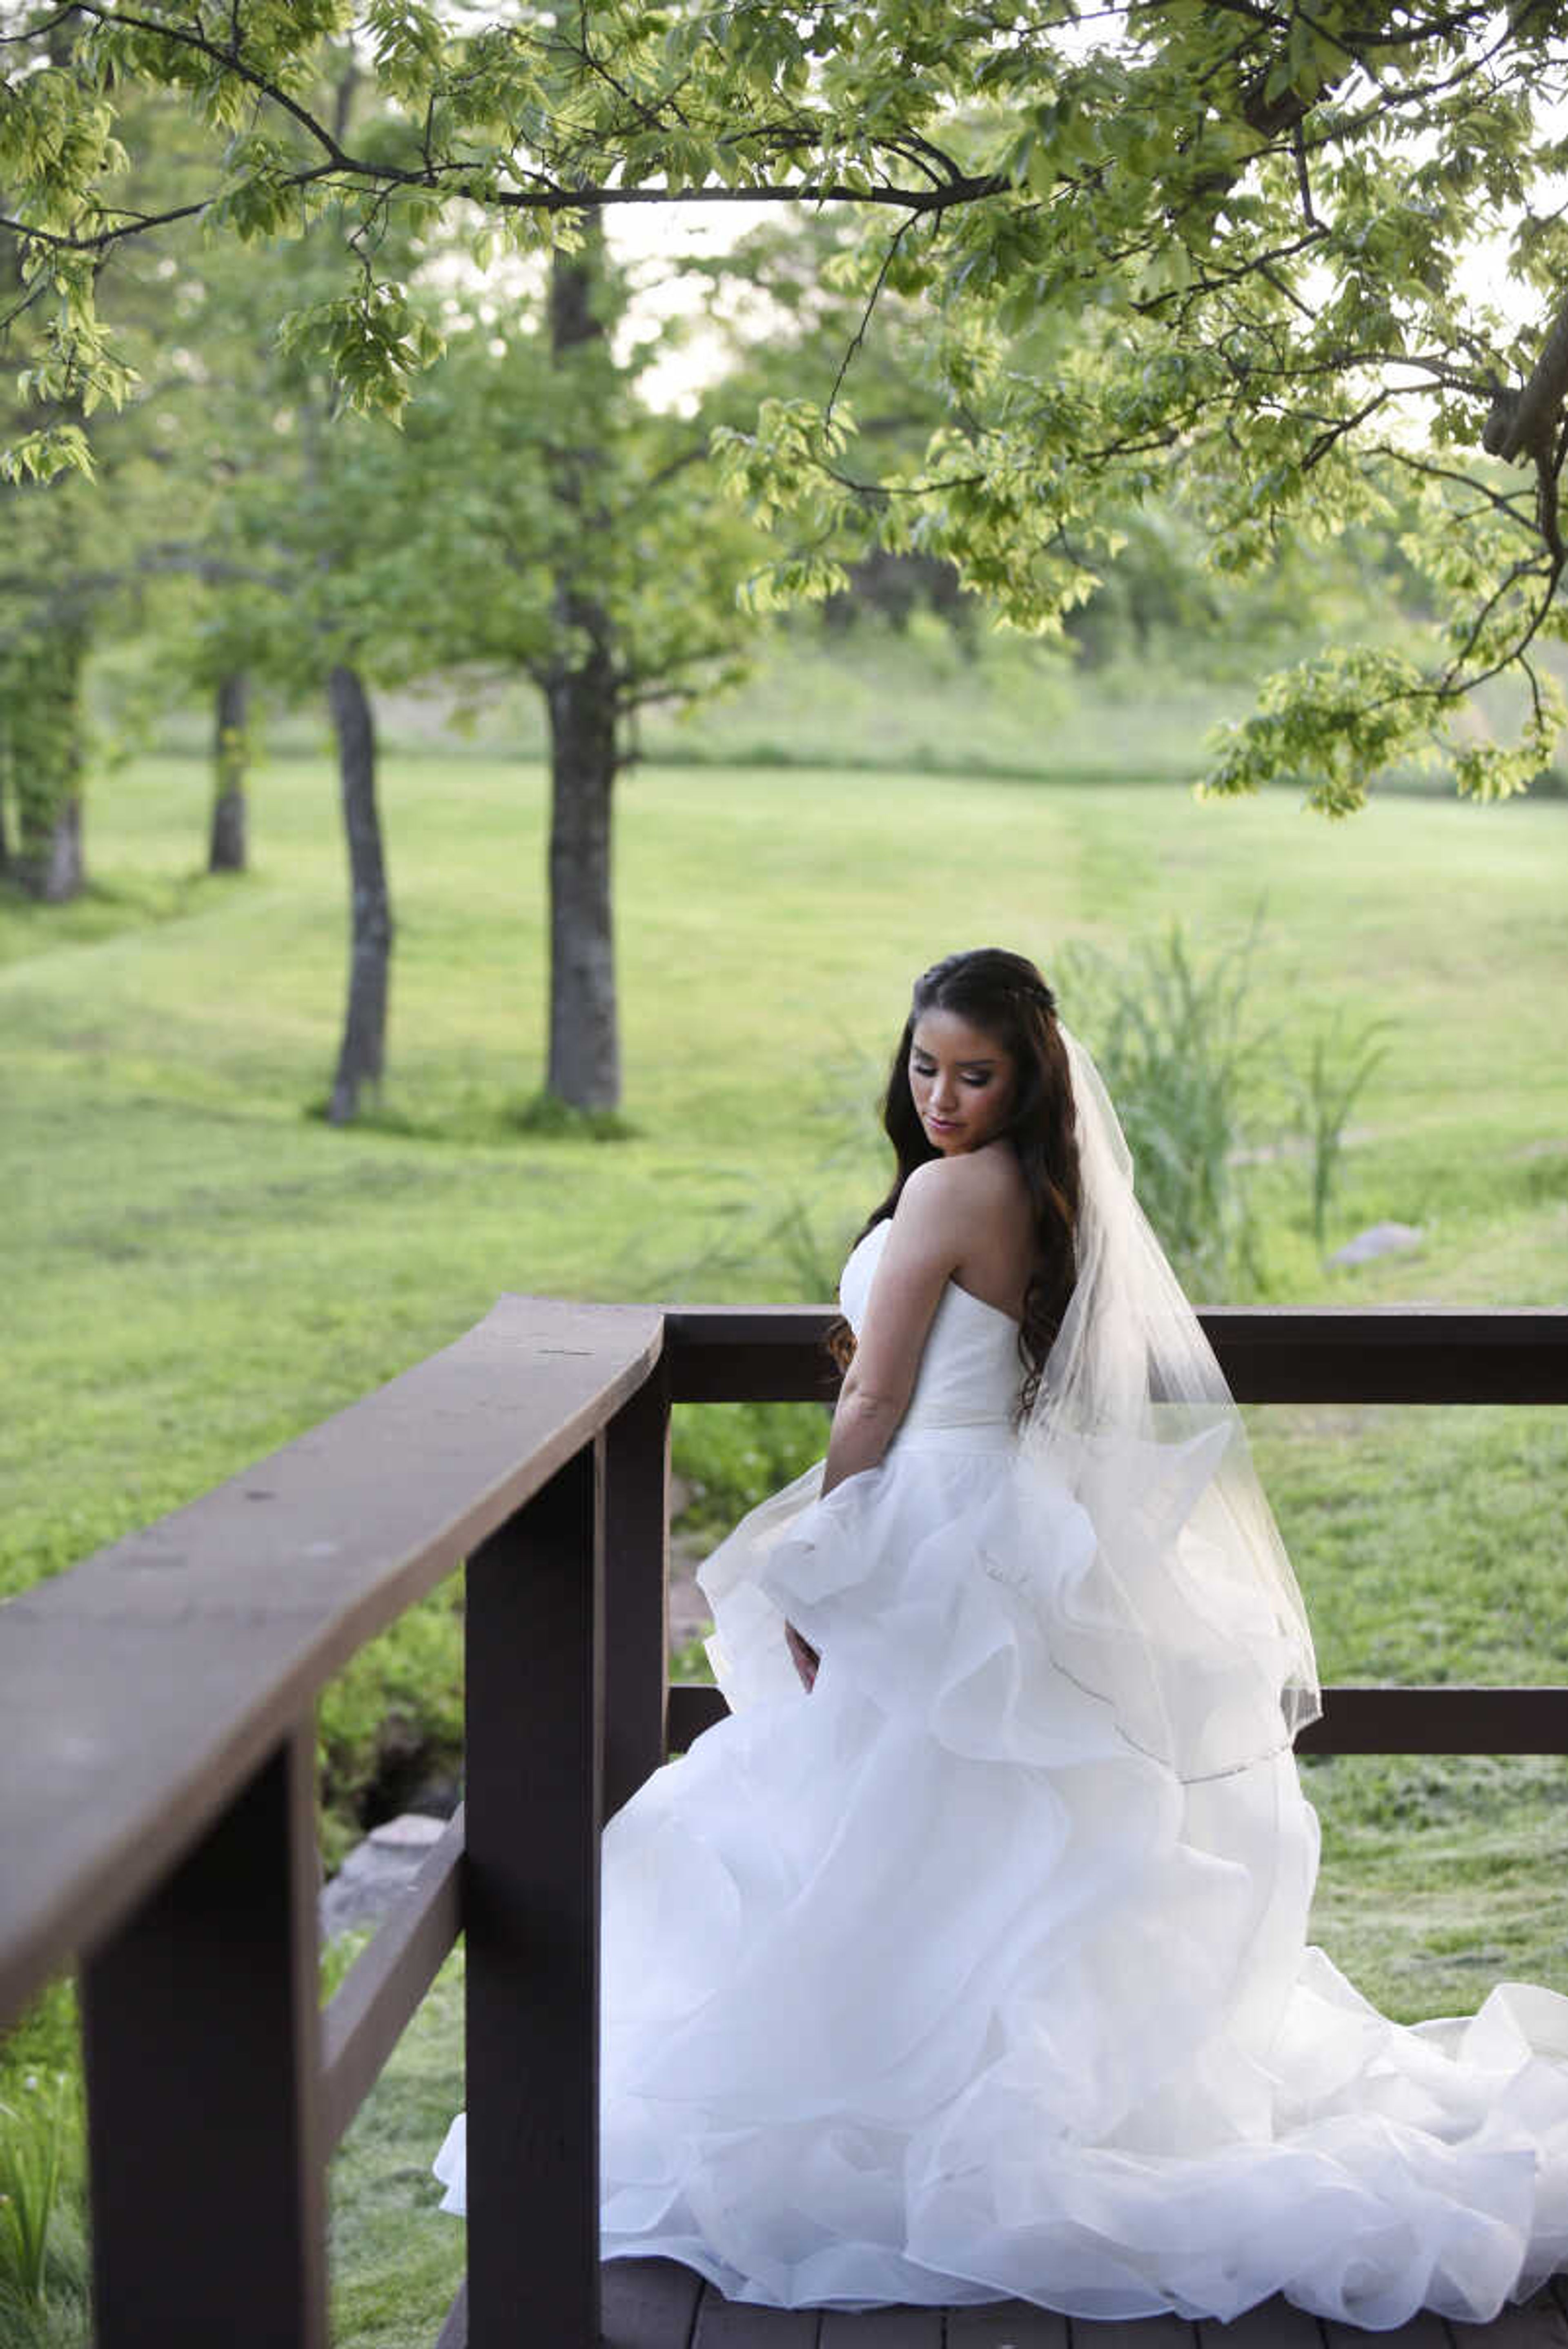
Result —
[[[458, 2349], [465, 2335], [444, 2342]], [[602, 2349], [1568, 2349], [1568, 2276], [1490, 2326], [1450, 2326], [1425, 2311], [1396, 2333], [1335, 2326], [1286, 2300], [1232, 2323], [1145, 2316], [1091, 2323], [1027, 2300], [966, 2309], [755, 2309], [724, 2300], [675, 2260], [604, 2262]]]

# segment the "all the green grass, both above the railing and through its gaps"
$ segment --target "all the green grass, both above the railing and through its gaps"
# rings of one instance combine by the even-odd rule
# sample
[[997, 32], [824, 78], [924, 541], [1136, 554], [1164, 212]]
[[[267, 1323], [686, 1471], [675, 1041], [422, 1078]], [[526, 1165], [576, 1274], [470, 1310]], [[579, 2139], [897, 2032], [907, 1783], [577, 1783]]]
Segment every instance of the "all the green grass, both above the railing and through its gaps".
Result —
[[[1103, 747], [1121, 723], [1103, 707]], [[1128, 738], [1159, 731], [1126, 709]], [[536, 766], [386, 761], [390, 1069], [355, 1132], [310, 1116], [346, 972], [329, 763], [261, 770], [237, 881], [195, 871], [205, 794], [197, 761], [134, 763], [92, 799], [94, 893], [59, 911], [0, 897], [0, 1593], [242, 1468], [503, 1290], [823, 1294], [884, 1184], [870, 1099], [910, 977], [964, 944], [1051, 972], [1070, 940], [1124, 951], [1180, 916], [1208, 954], [1265, 900], [1255, 1019], [1281, 1064], [1333, 1005], [1394, 1022], [1331, 1245], [1382, 1217], [1422, 1243], [1324, 1266], [1305, 1170], [1281, 1156], [1253, 1177], [1258, 1292], [1566, 1301], [1561, 801], [1401, 796], [1328, 827], [1288, 794], [1204, 808], [1173, 780], [644, 766], [616, 848], [635, 1135], [588, 1142], [515, 1125], [543, 1038]], [[1563, 1677], [1563, 1421], [1253, 1414], [1324, 1677]], [[710, 1520], [818, 1428], [684, 1414]], [[388, 1703], [451, 1736], [454, 1670], [447, 1590], [329, 1691], [334, 1776], [374, 1764]], [[1319, 1933], [1368, 1994], [1413, 2015], [1474, 2006], [1500, 1973], [1568, 1990], [1568, 1771], [1333, 1762], [1312, 1792]], [[442, 1999], [336, 2168], [339, 2340], [367, 2349], [404, 2316], [428, 2340], [461, 2262], [461, 2227], [423, 2217], [461, 2062]]]

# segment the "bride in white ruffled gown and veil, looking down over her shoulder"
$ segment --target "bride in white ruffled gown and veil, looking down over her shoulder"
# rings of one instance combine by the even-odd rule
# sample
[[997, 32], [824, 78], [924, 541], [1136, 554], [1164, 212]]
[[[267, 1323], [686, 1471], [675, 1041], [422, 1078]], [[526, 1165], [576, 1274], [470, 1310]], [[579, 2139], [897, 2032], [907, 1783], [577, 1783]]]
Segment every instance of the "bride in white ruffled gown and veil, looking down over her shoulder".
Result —
[[1495, 2316], [1568, 2264], [1568, 1999], [1403, 2027], [1307, 1945], [1300, 1593], [1030, 961], [924, 972], [884, 1123], [827, 1459], [698, 1574], [731, 1717], [604, 1828], [602, 2255]]

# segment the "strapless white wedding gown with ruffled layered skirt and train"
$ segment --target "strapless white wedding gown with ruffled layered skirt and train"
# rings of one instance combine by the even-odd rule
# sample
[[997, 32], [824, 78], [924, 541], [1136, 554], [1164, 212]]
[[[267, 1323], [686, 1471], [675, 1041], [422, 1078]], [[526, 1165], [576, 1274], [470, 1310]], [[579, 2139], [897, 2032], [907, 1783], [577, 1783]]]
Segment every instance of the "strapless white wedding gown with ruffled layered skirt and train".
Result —
[[[1568, 1999], [1385, 2020], [1307, 1945], [1288, 1745], [1182, 1783], [1128, 1743], [1063, 1661], [1093, 1534], [1018, 1374], [950, 1285], [882, 1466], [698, 1574], [733, 1712], [604, 1828], [602, 2253], [776, 2307], [1490, 2318], [1568, 2264]], [[463, 2210], [461, 2116], [435, 2170]]]

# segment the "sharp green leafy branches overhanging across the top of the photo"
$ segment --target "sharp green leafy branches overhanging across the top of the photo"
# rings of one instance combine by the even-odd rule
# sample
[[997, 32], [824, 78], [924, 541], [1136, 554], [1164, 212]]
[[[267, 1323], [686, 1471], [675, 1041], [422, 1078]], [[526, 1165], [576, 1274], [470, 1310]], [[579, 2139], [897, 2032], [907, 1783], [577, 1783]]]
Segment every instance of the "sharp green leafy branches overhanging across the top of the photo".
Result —
[[[376, 85], [374, 134], [324, 96], [346, 59]], [[1056, 630], [1154, 496], [1234, 576], [1378, 529], [1425, 620], [1267, 679], [1208, 787], [1286, 775], [1342, 813], [1394, 761], [1448, 754], [1495, 794], [1552, 756], [1568, 0], [611, 0], [494, 23], [78, 0], [0, 7], [0, 61], [12, 310], [52, 402], [12, 435], [12, 477], [87, 463], [80, 418], [129, 392], [99, 275], [176, 216], [249, 240], [336, 221], [341, 287], [284, 331], [353, 404], [397, 411], [435, 336], [386, 256], [444, 207], [477, 254], [571, 244], [618, 204], [832, 207], [860, 343], [825, 397], [797, 383], [722, 437], [783, 533], [764, 597], [825, 592], [877, 540]], [[125, 195], [150, 89], [209, 148], [165, 211]], [[898, 460], [856, 432], [863, 345], [896, 308], [938, 418]], [[1512, 745], [1469, 716], [1490, 679], [1519, 688]]]

